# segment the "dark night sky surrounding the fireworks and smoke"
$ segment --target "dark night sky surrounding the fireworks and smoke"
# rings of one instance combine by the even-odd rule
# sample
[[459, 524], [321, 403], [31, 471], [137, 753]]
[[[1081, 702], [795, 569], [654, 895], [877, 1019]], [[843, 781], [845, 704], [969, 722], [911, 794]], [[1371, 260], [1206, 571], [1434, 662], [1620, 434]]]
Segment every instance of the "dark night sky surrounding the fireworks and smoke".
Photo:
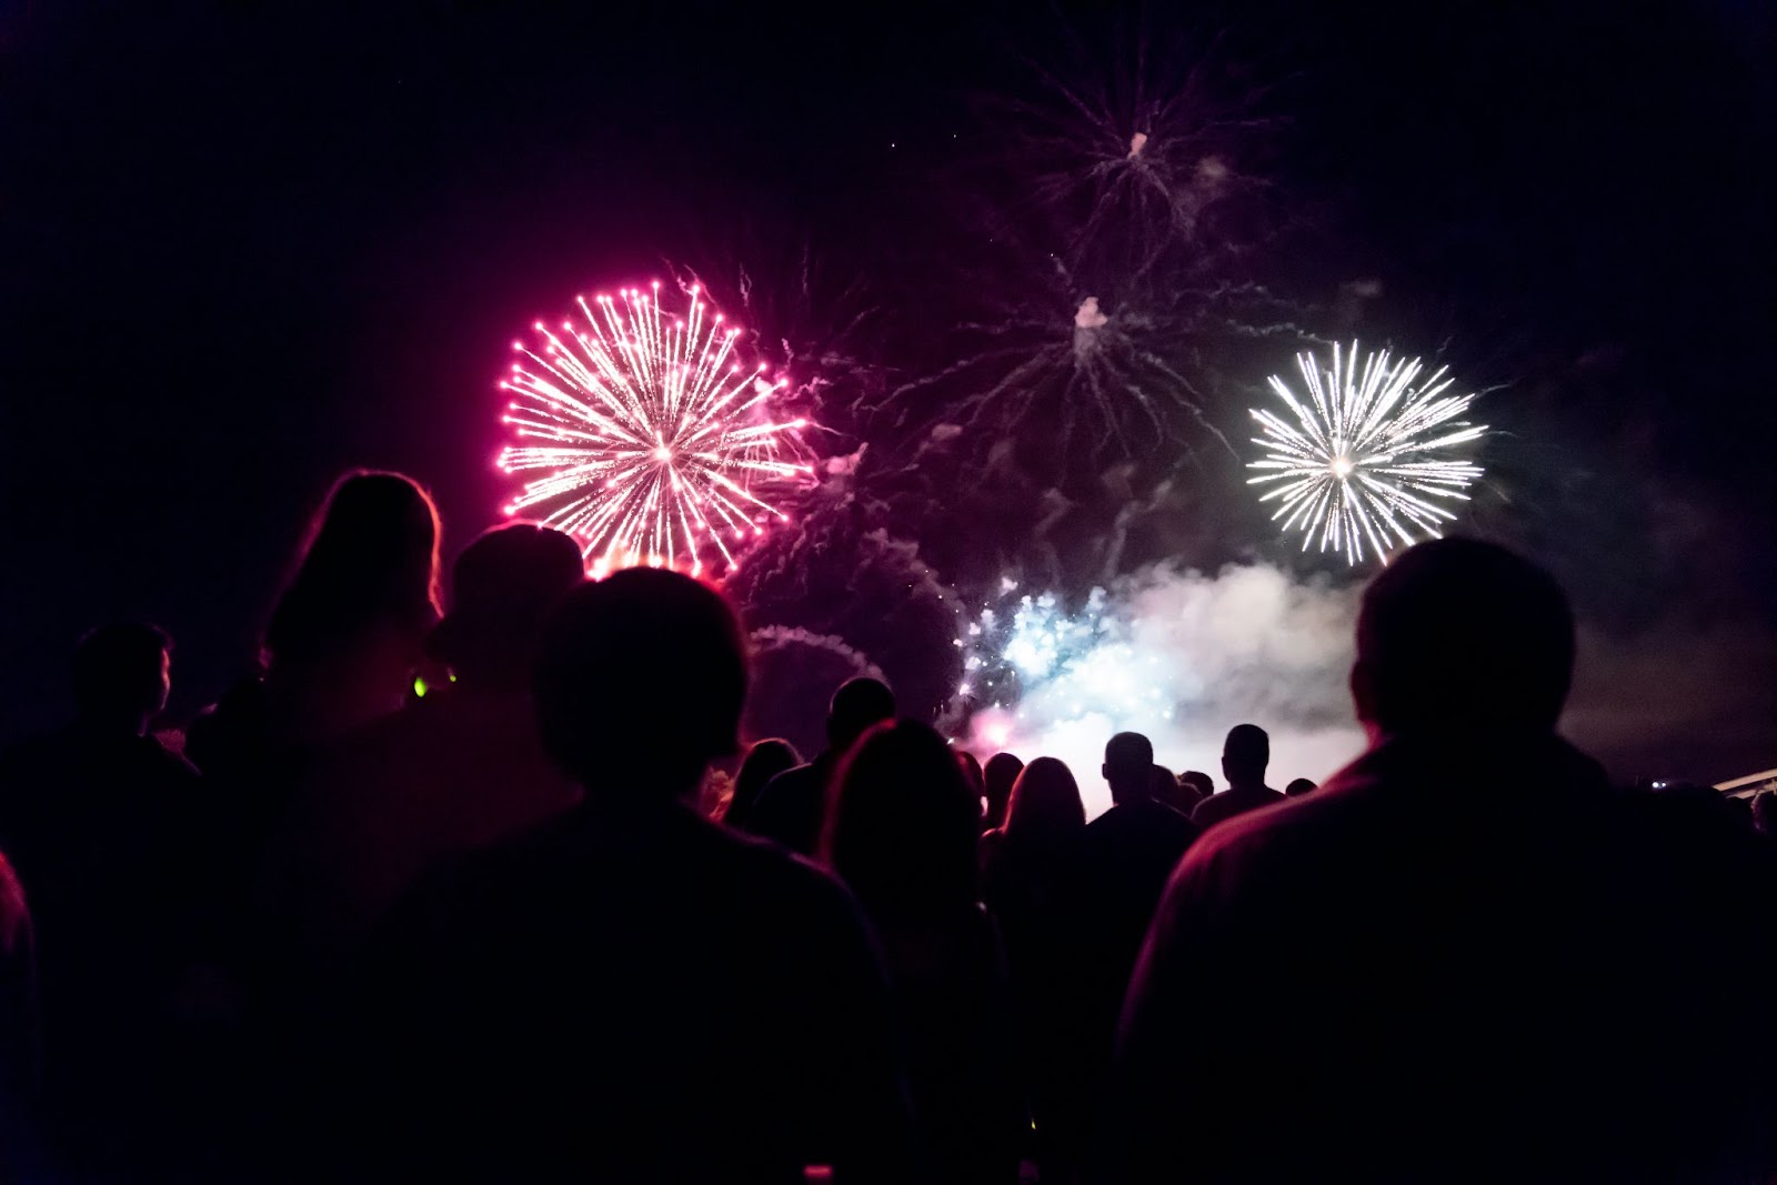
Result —
[[[897, 240], [942, 252], [913, 211], [951, 137], [1056, 21], [329, 7], [0, 0], [0, 736], [53, 716], [107, 618], [163, 622], [176, 705], [211, 698], [341, 467], [428, 483], [453, 553], [501, 494], [505, 343], [586, 284], [796, 240], [903, 291]], [[1546, 464], [1615, 476], [1505, 533], [1612, 627], [1750, 631], [1676, 661], [1768, 696], [1768, 5], [1169, 7], [1132, 20], [1276, 84], [1267, 165], [1313, 224], [1279, 275], [1322, 302], [1379, 277], [1388, 325], [1510, 382], [1498, 416]], [[1596, 563], [1617, 533], [1660, 570]]]

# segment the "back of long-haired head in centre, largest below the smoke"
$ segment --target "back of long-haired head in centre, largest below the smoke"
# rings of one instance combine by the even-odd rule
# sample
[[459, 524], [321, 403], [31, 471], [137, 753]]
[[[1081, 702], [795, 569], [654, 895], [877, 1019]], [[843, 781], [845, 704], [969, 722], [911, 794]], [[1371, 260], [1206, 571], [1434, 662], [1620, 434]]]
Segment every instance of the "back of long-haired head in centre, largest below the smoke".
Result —
[[945, 917], [977, 897], [977, 821], [944, 737], [910, 720], [883, 723], [839, 771], [826, 860], [878, 919]]

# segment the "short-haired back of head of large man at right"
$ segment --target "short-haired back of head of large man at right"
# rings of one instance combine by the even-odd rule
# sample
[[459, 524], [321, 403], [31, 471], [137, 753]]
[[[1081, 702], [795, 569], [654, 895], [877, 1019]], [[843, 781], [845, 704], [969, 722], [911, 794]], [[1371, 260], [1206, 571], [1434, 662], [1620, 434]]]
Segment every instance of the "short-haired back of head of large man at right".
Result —
[[1363, 592], [1352, 695], [1383, 732], [1546, 732], [1571, 677], [1567, 597], [1503, 547], [1418, 544]]

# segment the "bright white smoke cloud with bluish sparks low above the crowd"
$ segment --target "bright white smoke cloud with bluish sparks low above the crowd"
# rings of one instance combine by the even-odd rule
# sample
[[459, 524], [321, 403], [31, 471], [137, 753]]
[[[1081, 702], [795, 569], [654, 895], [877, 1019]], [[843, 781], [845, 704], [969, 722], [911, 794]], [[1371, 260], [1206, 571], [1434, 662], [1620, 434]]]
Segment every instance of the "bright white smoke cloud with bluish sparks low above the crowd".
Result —
[[[1345, 689], [1358, 593], [1253, 565], [1144, 569], [1077, 613], [1011, 597], [984, 622], [977, 670], [1008, 670], [1016, 700], [976, 712], [968, 744], [1059, 757], [1091, 815], [1111, 805], [1098, 766], [1121, 730], [1146, 734], [1175, 773], [1203, 769], [1219, 785], [1223, 737], [1256, 723], [1271, 734], [1272, 785], [1320, 782], [1363, 750]], [[997, 688], [972, 691], [993, 702]]]

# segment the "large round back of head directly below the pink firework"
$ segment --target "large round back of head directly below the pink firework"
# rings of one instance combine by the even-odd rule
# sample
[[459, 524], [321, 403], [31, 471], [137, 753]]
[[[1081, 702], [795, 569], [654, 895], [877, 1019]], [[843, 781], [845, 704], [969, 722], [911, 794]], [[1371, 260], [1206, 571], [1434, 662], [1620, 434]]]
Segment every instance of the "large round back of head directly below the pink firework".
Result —
[[746, 650], [716, 592], [626, 569], [562, 599], [531, 688], [544, 750], [588, 799], [679, 798], [736, 748]]

